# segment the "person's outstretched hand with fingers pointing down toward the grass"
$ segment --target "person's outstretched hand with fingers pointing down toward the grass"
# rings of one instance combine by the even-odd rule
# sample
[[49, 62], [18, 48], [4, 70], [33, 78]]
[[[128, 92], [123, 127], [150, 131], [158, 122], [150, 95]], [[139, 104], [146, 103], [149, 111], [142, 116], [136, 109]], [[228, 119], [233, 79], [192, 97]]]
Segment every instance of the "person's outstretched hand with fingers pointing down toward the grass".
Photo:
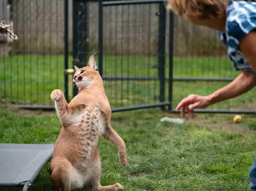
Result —
[[193, 110], [195, 108], [206, 108], [210, 105], [210, 98], [208, 96], [200, 96], [196, 94], [190, 94], [184, 98], [177, 105], [176, 110], [181, 110], [181, 116], [184, 117], [185, 110], [188, 111], [190, 117], [194, 117]]

